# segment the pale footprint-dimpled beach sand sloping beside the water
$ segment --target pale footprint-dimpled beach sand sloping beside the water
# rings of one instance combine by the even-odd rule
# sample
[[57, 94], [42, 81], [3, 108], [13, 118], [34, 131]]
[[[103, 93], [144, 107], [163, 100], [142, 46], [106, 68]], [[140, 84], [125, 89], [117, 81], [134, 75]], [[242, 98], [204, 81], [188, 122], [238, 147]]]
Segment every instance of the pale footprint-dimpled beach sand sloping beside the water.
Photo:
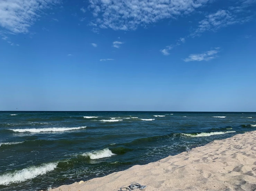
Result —
[[255, 191], [256, 131], [51, 191], [117, 191], [132, 182], [147, 185], [145, 191]]

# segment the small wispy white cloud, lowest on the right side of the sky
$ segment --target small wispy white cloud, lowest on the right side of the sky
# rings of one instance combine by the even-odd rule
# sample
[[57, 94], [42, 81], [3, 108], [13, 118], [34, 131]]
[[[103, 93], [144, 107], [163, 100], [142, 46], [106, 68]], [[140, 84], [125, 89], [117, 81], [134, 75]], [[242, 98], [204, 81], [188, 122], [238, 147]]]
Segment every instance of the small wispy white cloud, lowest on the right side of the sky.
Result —
[[209, 61], [214, 58], [217, 58], [216, 54], [219, 52], [218, 51], [219, 47], [215, 48], [215, 50], [210, 50], [203, 52], [201, 54], [190, 54], [188, 58], [184, 59], [185, 62], [190, 62], [190, 61]]

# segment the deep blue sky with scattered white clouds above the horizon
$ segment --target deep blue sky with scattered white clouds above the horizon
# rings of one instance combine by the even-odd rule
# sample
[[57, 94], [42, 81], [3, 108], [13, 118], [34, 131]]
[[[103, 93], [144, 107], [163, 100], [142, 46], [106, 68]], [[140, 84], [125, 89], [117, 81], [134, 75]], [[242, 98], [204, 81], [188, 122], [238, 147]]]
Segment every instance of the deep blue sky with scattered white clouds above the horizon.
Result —
[[0, 110], [256, 111], [255, 0], [2, 0]]

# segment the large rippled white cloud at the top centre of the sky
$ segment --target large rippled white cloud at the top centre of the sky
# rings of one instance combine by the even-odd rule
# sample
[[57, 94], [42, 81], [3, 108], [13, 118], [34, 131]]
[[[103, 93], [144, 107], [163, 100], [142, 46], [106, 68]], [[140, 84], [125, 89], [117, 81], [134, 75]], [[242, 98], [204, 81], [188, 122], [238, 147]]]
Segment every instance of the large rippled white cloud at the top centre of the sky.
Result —
[[189, 14], [211, 0], [90, 0], [100, 28], [135, 30], [166, 18]]

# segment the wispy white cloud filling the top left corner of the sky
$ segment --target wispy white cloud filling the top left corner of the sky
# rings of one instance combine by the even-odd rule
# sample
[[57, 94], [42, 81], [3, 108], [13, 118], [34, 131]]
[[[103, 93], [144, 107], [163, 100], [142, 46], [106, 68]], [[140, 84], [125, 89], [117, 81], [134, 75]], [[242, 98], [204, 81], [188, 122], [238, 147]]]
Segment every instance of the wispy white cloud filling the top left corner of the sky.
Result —
[[0, 26], [13, 33], [27, 33], [40, 14], [60, 0], [1, 0]]

